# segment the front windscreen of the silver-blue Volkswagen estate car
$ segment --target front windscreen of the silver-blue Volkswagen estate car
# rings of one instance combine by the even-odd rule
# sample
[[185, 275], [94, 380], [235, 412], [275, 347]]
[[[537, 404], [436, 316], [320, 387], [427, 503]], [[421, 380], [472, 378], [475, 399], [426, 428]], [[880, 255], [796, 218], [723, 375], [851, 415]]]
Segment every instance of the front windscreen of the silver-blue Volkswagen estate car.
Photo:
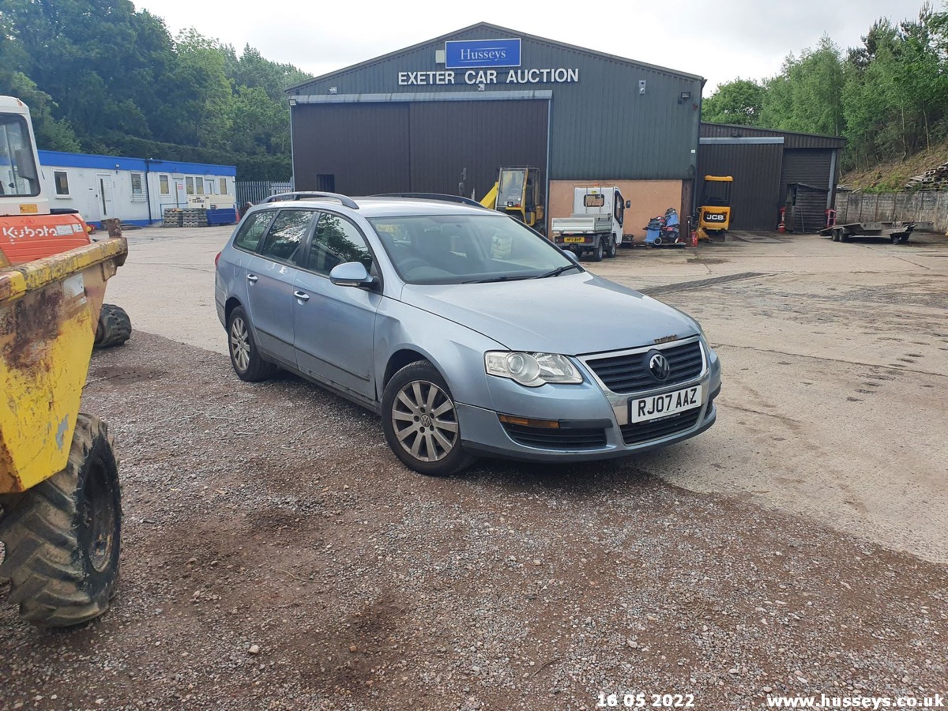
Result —
[[533, 230], [496, 213], [376, 217], [369, 222], [407, 283], [533, 279], [574, 264]]

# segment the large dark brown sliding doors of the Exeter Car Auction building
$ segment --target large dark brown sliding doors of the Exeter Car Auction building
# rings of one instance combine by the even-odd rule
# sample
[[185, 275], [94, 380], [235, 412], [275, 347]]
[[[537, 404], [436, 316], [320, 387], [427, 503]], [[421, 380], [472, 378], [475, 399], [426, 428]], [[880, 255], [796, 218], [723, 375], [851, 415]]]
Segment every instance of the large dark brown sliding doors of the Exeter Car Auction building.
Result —
[[540, 169], [545, 194], [548, 105], [545, 100], [298, 105], [293, 110], [296, 187], [319, 190], [317, 176], [331, 174], [336, 190], [351, 195], [474, 191], [481, 198], [501, 165], [530, 165]]

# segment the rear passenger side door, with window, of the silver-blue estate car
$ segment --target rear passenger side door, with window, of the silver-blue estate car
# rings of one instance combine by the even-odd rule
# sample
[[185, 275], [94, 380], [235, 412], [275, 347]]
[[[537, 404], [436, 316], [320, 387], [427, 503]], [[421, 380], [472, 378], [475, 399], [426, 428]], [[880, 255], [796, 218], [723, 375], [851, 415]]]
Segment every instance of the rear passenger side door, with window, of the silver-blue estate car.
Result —
[[[268, 356], [296, 367], [293, 309], [300, 269], [297, 260], [316, 210], [280, 210], [247, 268], [250, 322], [257, 345]], [[305, 295], [301, 298], [308, 298]]]

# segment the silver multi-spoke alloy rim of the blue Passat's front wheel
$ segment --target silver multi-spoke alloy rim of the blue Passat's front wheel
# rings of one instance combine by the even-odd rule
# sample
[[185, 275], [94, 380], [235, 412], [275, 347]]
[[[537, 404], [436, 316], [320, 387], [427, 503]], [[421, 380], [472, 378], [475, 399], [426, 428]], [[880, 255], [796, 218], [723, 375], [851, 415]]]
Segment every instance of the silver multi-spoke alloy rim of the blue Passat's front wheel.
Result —
[[398, 443], [420, 462], [438, 462], [458, 442], [458, 420], [447, 393], [428, 380], [413, 380], [392, 403]]

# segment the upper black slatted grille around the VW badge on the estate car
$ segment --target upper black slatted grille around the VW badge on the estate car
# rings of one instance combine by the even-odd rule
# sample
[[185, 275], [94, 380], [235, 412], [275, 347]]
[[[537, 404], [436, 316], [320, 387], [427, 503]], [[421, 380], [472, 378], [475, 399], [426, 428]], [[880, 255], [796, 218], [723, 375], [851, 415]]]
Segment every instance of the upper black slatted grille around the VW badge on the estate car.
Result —
[[648, 353], [625, 356], [591, 357], [586, 364], [612, 392], [638, 392], [684, 383], [702, 374], [702, 346], [697, 340], [680, 346], [656, 349], [668, 359], [671, 371], [665, 380], [656, 380], [648, 370]]

